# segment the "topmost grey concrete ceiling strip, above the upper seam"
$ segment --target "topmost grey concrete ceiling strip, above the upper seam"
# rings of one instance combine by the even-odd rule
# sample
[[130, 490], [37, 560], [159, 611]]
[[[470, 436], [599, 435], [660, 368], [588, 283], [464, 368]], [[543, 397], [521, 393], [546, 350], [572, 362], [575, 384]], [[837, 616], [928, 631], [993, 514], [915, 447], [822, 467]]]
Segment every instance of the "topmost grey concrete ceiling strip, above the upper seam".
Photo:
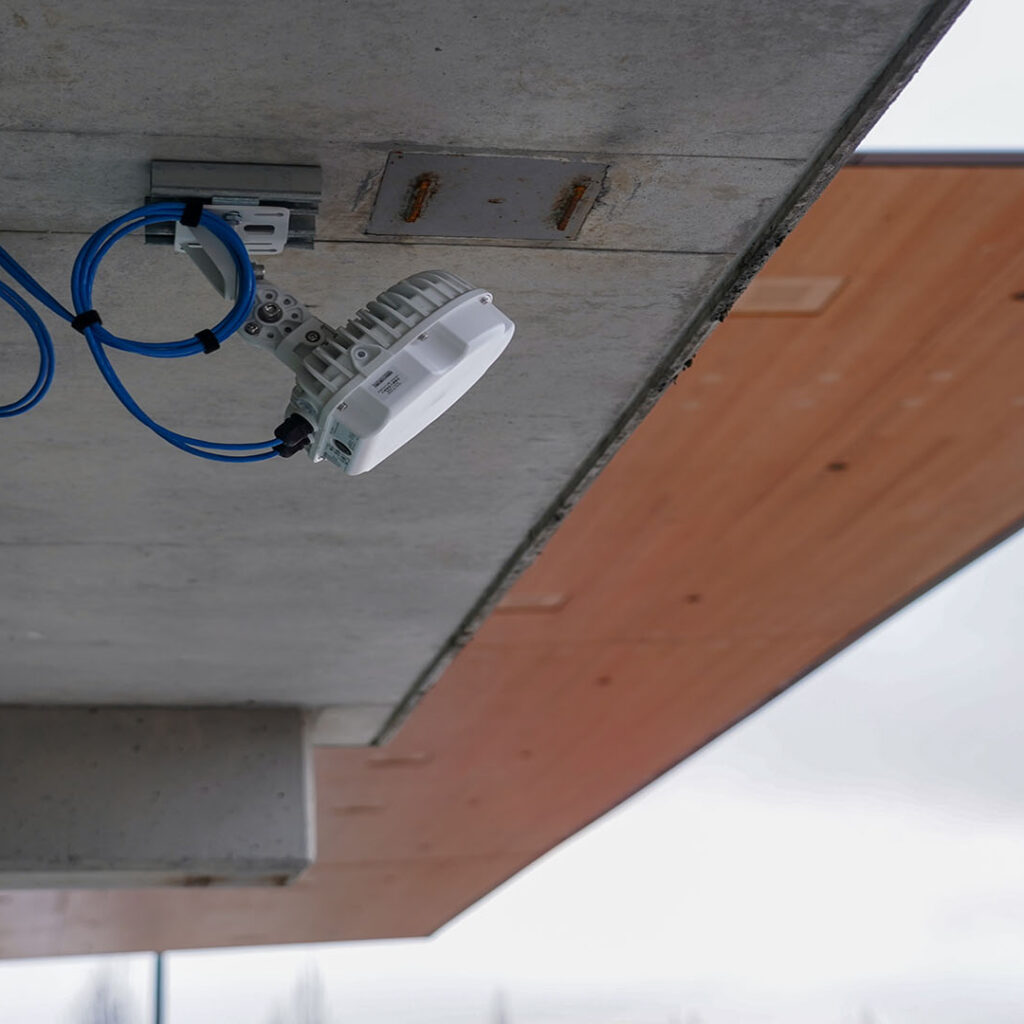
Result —
[[805, 159], [932, 6], [29, 2], [4, 126]]

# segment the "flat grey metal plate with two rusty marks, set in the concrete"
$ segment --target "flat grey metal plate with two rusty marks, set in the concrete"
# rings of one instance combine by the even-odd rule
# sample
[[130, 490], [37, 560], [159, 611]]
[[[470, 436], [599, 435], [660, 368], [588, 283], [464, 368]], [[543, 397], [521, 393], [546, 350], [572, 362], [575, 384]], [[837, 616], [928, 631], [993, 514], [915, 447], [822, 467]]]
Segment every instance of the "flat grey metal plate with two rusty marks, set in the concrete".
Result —
[[554, 157], [396, 150], [388, 155], [367, 233], [571, 240], [607, 170]]

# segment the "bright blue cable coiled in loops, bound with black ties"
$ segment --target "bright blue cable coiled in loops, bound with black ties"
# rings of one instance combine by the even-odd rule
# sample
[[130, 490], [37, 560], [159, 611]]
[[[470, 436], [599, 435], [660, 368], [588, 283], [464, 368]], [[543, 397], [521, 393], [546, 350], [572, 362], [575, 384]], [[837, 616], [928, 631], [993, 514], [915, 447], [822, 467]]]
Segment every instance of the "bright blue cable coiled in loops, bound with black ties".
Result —
[[[144, 227], [146, 224], [179, 220], [184, 212], [183, 203], [153, 203], [139, 207], [122, 217], [112, 220], [96, 231], [80, 250], [72, 270], [71, 294], [72, 313], [61, 305], [49, 292], [37, 282], [8, 252], [0, 248], [0, 267], [6, 270], [27, 292], [42, 302], [48, 309], [62, 319], [72, 323], [76, 314], [92, 309], [92, 289], [96, 272], [103, 257], [126, 234]], [[222, 242], [231, 255], [239, 274], [239, 297], [231, 310], [223, 319], [212, 328], [212, 333], [218, 342], [226, 341], [239, 331], [252, 310], [256, 296], [256, 280], [252, 263], [245, 244], [238, 233], [220, 217], [204, 210], [200, 218], [203, 227], [210, 230]], [[29, 392], [11, 406], [0, 407], [0, 415], [18, 416], [28, 412], [46, 393], [53, 379], [53, 344], [49, 333], [35, 310], [19, 296], [6, 286], [0, 284], [0, 298], [11, 305], [33, 329], [39, 344], [41, 358], [39, 376]], [[13, 300], [13, 301], [12, 301]], [[117, 348], [124, 352], [147, 355], [157, 358], [181, 358], [196, 355], [206, 349], [196, 337], [172, 342], [141, 342], [121, 338], [102, 324], [92, 324], [82, 330], [89, 351], [92, 353], [100, 374], [111, 390], [125, 409], [140, 423], [144, 424], [169, 444], [187, 452], [189, 455], [215, 462], [263, 462], [278, 455], [281, 442], [275, 439], [255, 443], [227, 443], [223, 441], [207, 441], [199, 437], [190, 437], [169, 429], [146, 415], [129, 394], [111, 365], [103, 346]], [[255, 453], [251, 455], [225, 455], [230, 452]]]

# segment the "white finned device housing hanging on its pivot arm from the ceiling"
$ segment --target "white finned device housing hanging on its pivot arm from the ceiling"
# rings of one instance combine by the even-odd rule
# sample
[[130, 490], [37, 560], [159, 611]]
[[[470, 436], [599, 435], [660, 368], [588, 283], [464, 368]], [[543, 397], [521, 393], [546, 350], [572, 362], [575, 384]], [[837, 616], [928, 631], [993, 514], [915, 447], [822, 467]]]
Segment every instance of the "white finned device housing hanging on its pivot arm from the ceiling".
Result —
[[[267, 323], [267, 304], [278, 318]], [[280, 312], [280, 315], [279, 315]], [[443, 270], [398, 282], [332, 330], [274, 286], [257, 290], [250, 341], [295, 372], [287, 415], [313, 430], [313, 462], [373, 469], [459, 400], [502, 354], [515, 325]]]

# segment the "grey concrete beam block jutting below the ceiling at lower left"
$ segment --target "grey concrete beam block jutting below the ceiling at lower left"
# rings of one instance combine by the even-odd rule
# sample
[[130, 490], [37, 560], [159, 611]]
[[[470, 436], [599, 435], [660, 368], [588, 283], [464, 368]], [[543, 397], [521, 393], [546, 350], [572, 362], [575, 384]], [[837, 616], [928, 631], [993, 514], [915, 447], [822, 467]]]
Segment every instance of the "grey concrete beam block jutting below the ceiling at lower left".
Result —
[[0, 709], [0, 889], [284, 885], [308, 754], [295, 710]]

